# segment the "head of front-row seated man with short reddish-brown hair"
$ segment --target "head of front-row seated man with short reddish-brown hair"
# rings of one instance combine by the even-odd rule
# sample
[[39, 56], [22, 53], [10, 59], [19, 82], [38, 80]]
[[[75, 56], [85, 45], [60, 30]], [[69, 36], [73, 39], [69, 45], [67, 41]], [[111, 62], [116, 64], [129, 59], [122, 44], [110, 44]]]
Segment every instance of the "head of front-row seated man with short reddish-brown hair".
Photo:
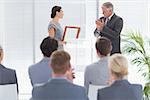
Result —
[[70, 55], [63, 51], [55, 51], [51, 56], [51, 67], [55, 74], [65, 74], [70, 68]]

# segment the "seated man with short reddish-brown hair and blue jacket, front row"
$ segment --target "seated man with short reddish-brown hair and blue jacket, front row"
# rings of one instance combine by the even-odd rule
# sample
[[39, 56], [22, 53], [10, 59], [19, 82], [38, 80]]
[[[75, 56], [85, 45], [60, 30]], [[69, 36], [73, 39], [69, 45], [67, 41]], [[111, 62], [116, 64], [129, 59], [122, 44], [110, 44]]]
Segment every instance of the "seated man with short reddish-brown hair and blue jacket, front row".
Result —
[[[32, 100], [87, 100], [85, 88], [67, 80], [66, 72], [71, 72], [70, 55], [65, 51], [55, 51], [51, 56], [52, 79], [35, 86]], [[72, 74], [70, 74], [72, 75]]]

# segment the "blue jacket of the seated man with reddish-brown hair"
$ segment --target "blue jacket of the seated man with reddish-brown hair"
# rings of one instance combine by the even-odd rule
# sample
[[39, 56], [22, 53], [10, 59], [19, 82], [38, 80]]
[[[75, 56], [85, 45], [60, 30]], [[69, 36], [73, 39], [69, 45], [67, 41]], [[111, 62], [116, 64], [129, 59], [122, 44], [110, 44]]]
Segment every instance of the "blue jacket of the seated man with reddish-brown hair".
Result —
[[87, 100], [84, 87], [74, 85], [66, 79], [51, 79], [47, 83], [35, 86], [32, 100]]

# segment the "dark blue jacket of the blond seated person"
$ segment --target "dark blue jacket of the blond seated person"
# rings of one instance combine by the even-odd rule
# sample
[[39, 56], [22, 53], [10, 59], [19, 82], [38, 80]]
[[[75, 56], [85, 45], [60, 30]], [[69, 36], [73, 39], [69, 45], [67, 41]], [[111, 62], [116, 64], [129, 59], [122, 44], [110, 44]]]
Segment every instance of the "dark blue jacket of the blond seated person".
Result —
[[98, 90], [97, 100], [142, 100], [142, 86], [117, 80], [110, 87]]

